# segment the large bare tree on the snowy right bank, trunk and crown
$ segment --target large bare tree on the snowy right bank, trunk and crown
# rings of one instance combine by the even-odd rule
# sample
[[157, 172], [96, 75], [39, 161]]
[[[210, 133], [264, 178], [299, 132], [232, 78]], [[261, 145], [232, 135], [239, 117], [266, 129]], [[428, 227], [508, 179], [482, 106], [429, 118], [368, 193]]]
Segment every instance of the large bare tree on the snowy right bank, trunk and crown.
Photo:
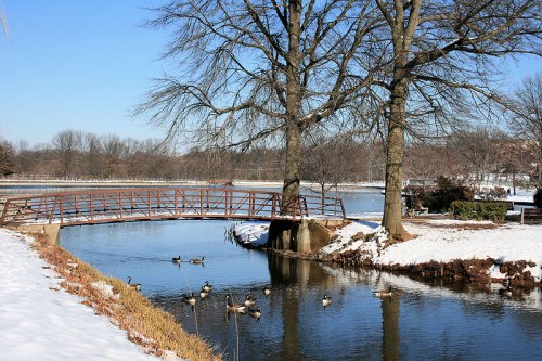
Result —
[[383, 225], [400, 237], [406, 233], [401, 221], [405, 131], [443, 130], [453, 126], [447, 123], [450, 114], [499, 102], [488, 86], [495, 73], [492, 60], [541, 53], [542, 9], [539, 0], [375, 1], [386, 18], [382, 41], [389, 44], [392, 64], [376, 83], [388, 107]]

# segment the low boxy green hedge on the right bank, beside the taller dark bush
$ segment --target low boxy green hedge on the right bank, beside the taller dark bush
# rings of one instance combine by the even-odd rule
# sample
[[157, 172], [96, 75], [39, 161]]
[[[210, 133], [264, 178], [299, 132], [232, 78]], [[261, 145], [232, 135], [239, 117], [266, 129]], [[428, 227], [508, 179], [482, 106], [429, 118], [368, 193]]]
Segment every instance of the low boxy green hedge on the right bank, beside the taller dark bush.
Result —
[[455, 201], [450, 205], [454, 219], [504, 221], [506, 204], [504, 202], [465, 202]]

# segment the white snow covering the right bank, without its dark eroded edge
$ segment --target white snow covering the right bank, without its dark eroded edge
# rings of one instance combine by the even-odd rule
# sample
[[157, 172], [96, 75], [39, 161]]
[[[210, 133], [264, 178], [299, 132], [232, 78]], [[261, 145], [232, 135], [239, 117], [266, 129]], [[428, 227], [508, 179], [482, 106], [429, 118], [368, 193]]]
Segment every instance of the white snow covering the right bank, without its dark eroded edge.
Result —
[[[480, 225], [489, 229], [472, 229]], [[535, 263], [526, 270], [531, 272], [534, 281], [541, 281], [542, 225], [507, 223], [493, 228], [489, 221], [427, 220], [406, 222], [405, 229], [416, 238], [382, 247], [387, 236], [378, 223], [356, 221], [337, 231], [335, 241], [322, 252], [334, 254], [361, 249], [372, 258], [374, 265], [382, 266], [412, 266], [431, 260], [449, 262], [454, 259], [493, 258], [501, 262], [525, 260]], [[235, 231], [244, 243], [257, 241], [261, 244], [268, 236], [267, 223], [241, 223]], [[376, 233], [376, 236], [369, 242], [363, 237], [352, 240], [360, 232]], [[499, 272], [499, 267], [490, 271], [495, 279], [505, 278]]]

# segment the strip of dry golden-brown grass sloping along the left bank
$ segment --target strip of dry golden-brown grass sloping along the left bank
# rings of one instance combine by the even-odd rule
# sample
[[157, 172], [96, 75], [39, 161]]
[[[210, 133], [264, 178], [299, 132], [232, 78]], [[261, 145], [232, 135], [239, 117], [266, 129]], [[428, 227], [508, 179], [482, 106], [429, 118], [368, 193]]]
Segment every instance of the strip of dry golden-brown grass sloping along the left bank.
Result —
[[[48, 244], [41, 234], [31, 235], [37, 241], [34, 247], [40, 256], [65, 279], [61, 285], [85, 298], [83, 304], [93, 307], [98, 314], [107, 315], [114, 324], [126, 330], [128, 338], [143, 346], [149, 353], [165, 356], [164, 351], [168, 350], [194, 361], [221, 360], [209, 344], [186, 333], [170, 313], [153, 307], [149, 299], [125, 282], [104, 276], [60, 246]], [[95, 282], [112, 285], [113, 297], [93, 287]]]

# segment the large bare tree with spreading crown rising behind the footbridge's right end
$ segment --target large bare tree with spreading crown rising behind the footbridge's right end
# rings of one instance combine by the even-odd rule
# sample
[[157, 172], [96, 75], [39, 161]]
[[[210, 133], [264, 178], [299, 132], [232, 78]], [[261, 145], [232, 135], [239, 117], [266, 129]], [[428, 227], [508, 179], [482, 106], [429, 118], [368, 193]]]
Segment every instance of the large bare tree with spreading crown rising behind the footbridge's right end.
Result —
[[151, 25], [173, 28], [165, 56], [183, 74], [156, 80], [137, 113], [207, 147], [284, 137], [283, 191], [297, 195], [304, 132], [347, 113], [371, 81], [353, 55], [382, 54], [369, 41], [378, 24], [371, 2], [172, 1]]

